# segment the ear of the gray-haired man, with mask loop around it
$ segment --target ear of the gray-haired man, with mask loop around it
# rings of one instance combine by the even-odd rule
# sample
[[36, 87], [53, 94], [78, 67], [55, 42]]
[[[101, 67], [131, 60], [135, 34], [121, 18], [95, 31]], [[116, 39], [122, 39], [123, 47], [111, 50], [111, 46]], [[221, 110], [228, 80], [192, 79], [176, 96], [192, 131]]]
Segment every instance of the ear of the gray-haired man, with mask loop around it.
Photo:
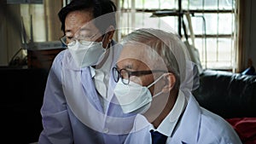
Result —
[[172, 72], [166, 73], [164, 78], [166, 79], [166, 85], [162, 89], [162, 92], [169, 93], [173, 89], [174, 85], [176, 84], [176, 78]]

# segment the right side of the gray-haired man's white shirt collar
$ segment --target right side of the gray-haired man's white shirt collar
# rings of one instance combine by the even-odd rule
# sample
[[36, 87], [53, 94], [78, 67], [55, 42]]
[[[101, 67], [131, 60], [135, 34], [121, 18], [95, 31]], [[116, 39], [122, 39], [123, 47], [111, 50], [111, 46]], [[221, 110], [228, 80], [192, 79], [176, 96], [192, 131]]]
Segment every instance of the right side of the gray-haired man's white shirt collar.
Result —
[[[175, 102], [172, 111], [169, 112], [156, 130], [163, 135], [171, 136], [180, 121], [180, 117], [182, 116], [187, 103], [185, 95], [179, 90], [177, 101]], [[153, 125], [152, 130], [155, 130]]]

